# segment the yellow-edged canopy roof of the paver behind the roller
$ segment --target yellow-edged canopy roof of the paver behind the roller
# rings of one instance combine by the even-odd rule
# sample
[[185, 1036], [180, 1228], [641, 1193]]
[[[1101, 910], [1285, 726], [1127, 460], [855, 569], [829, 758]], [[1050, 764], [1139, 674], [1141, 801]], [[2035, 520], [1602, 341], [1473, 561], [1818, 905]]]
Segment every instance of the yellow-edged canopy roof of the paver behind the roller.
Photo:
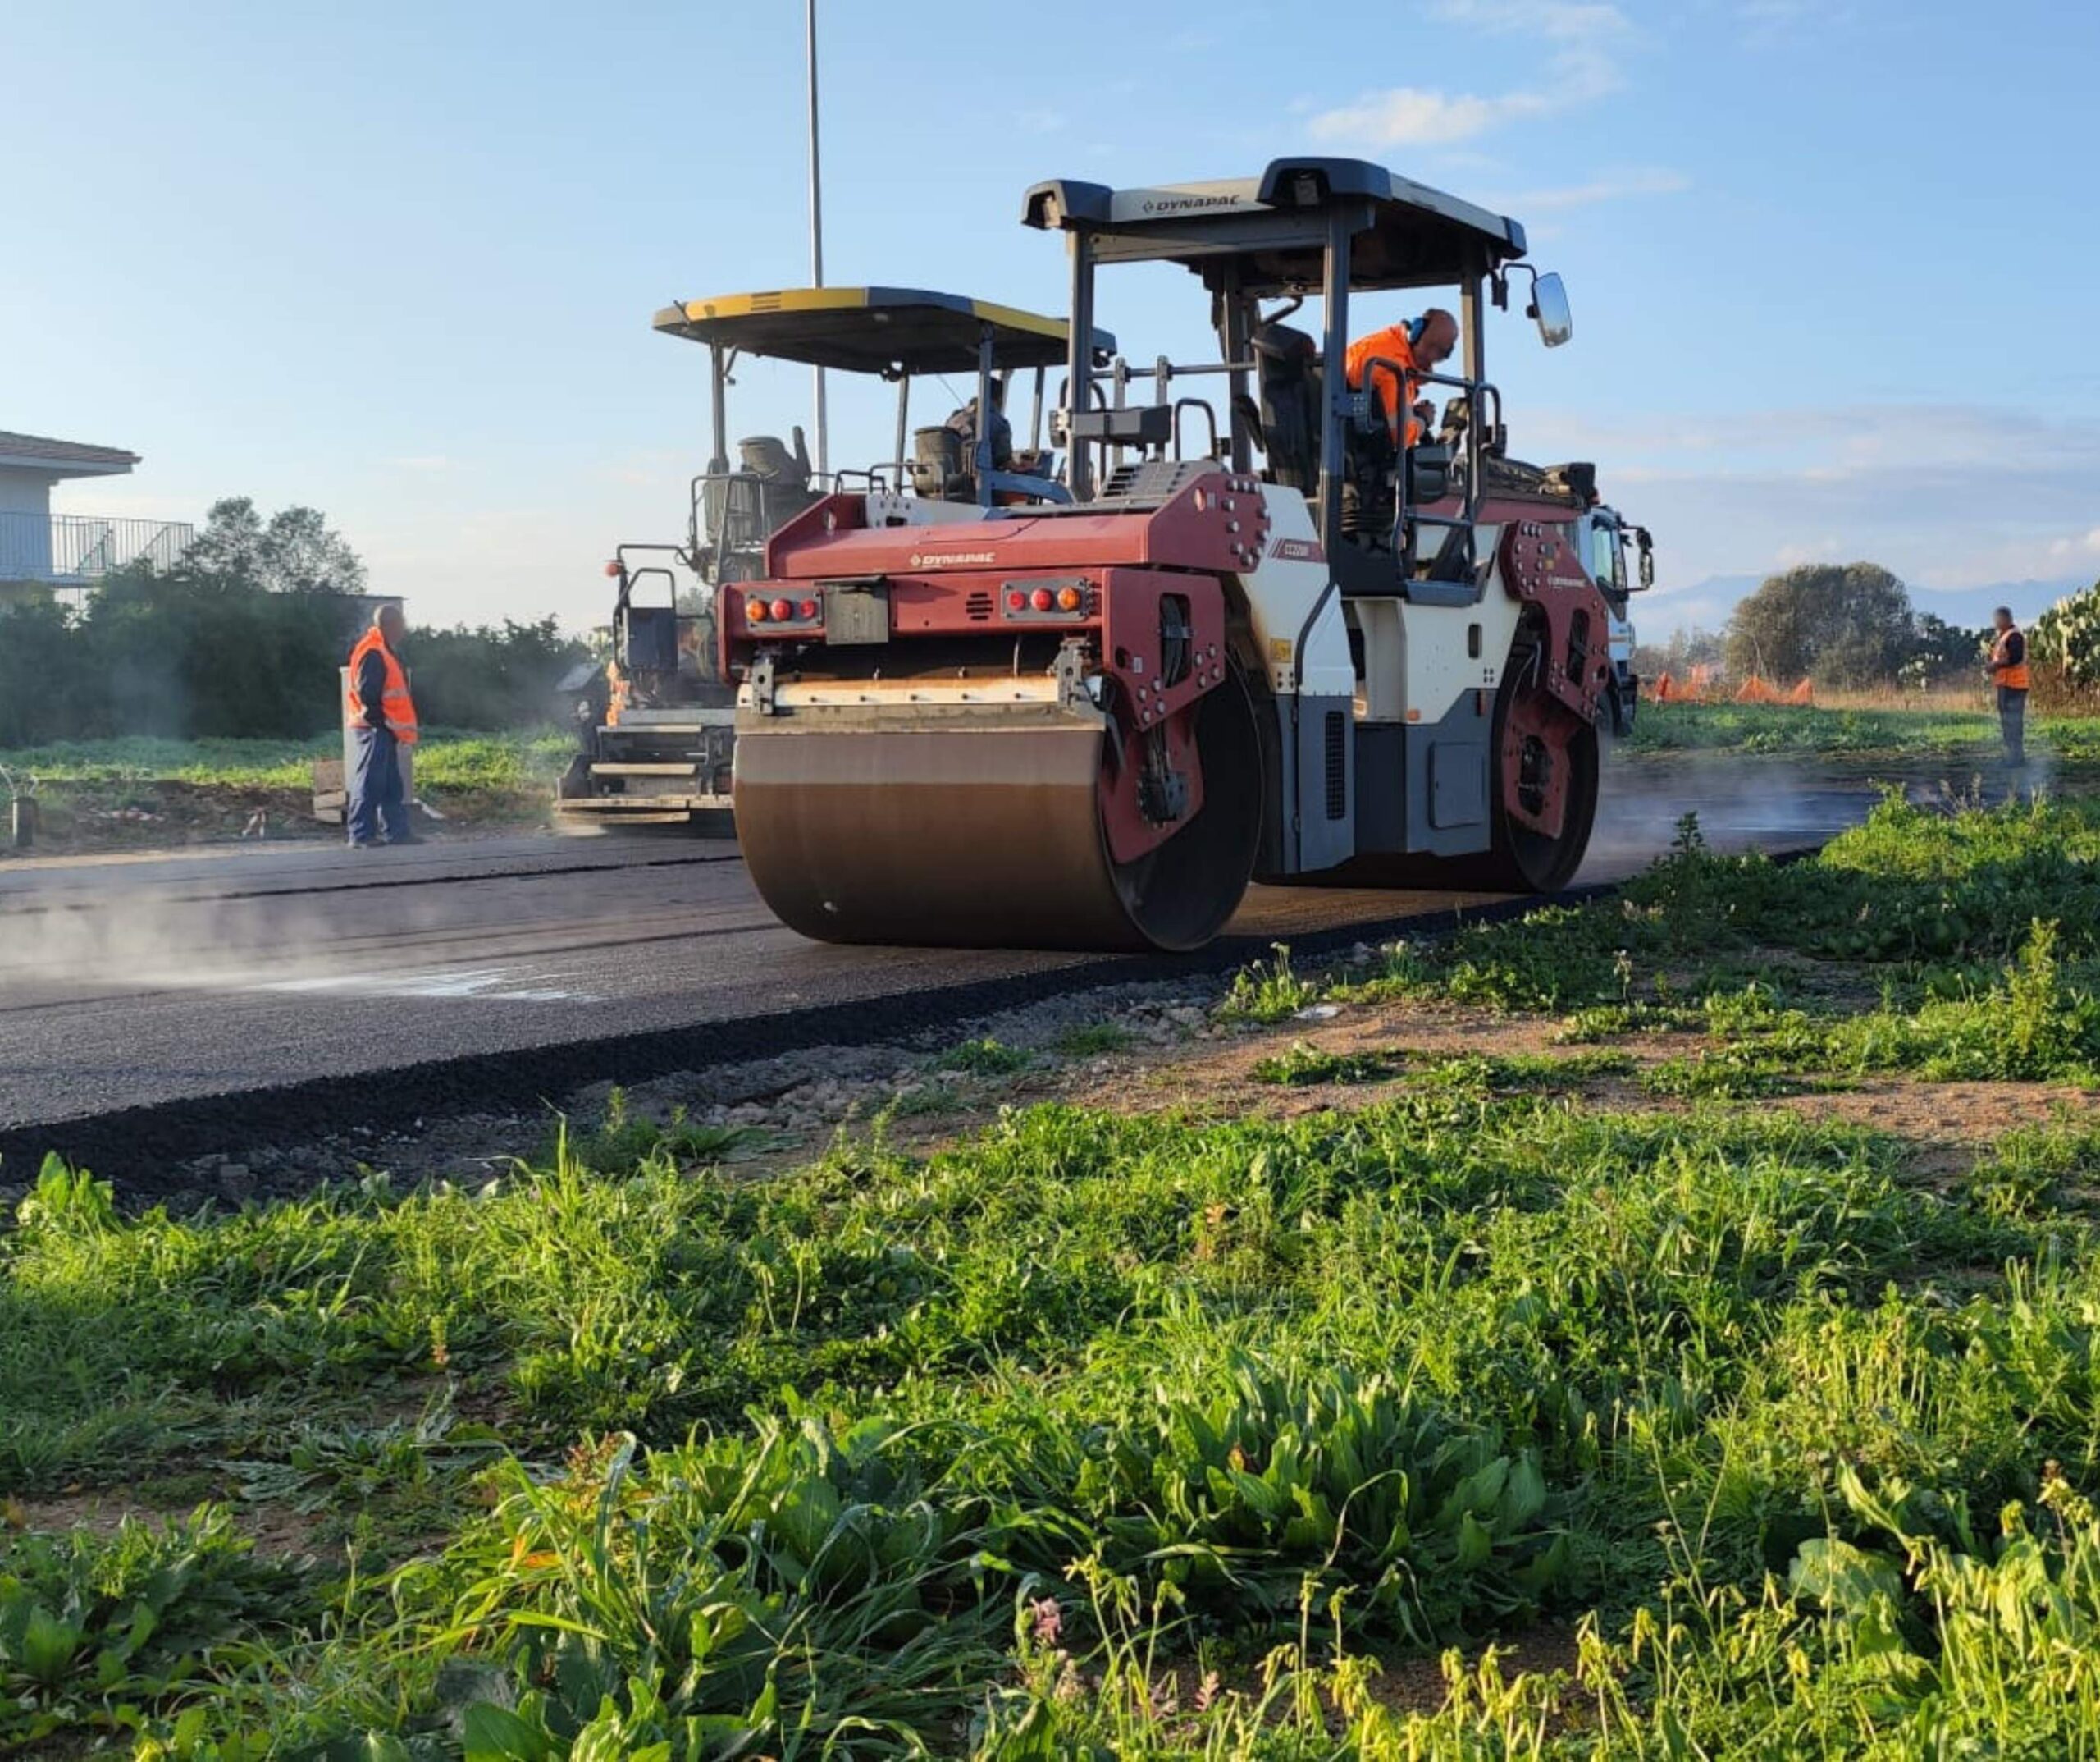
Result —
[[[926, 288], [781, 288], [687, 300], [655, 315], [655, 328], [670, 336], [884, 376], [974, 374], [985, 326], [991, 328], [993, 368], [1065, 363], [1065, 319]], [[1094, 349], [1113, 355], [1115, 338], [1096, 330]]]

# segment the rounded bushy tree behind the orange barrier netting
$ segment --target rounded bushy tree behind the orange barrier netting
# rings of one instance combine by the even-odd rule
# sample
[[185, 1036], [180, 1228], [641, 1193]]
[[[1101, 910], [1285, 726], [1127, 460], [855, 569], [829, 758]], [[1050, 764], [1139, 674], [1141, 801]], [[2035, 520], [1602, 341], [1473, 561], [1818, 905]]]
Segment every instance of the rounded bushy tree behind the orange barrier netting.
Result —
[[1875, 685], [1917, 645], [1911, 594], [1880, 563], [1804, 563], [1772, 575], [1728, 620], [1728, 670], [1772, 680]]

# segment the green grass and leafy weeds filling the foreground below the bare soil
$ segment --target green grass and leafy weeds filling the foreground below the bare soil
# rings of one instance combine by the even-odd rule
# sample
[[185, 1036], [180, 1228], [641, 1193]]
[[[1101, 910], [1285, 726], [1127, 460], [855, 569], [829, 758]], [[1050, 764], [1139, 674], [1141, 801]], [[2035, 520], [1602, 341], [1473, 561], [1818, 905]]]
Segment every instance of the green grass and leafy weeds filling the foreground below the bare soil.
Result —
[[[1919, 1573], [2031, 1571], [1987, 1514], [2050, 1460], [2094, 1478], [2100, 1258], [2058, 1205], [2094, 1168], [2056, 1128], [1936, 1193], [1850, 1128], [1472, 1082], [1292, 1124], [1040, 1107], [766, 1182], [571, 1147], [187, 1220], [52, 1168], [0, 1247], [0, 1485], [218, 1464], [235, 1510], [304, 1512], [359, 1567], [258, 1598], [214, 1544], [195, 1592], [153, 1592], [200, 1598], [202, 1638], [103, 1663], [132, 1592], [69, 1588], [48, 1548], [86, 1541], [4, 1541], [0, 1733], [1310, 1756], [1338, 1751], [1298, 1701], [1367, 1657], [1583, 1617], [1598, 1680], [1564, 1705], [1617, 1684], [1648, 1743], [1665, 1714], [1737, 1741], [1766, 1663], [1800, 1741], [1966, 1730]], [[2090, 1619], [2087, 1546], [2031, 1537], [2062, 1619]], [[1894, 1688], [1821, 1609], [1833, 1562], [1894, 1586]], [[1642, 1623], [1670, 1609], [1665, 1657]], [[2031, 1646], [2006, 1670], [2054, 1657], [2001, 1640]], [[1149, 1649], [1237, 1688], [1140, 1718]], [[1407, 1739], [1365, 1699], [1346, 1754], [1470, 1754], [1468, 1705]]]

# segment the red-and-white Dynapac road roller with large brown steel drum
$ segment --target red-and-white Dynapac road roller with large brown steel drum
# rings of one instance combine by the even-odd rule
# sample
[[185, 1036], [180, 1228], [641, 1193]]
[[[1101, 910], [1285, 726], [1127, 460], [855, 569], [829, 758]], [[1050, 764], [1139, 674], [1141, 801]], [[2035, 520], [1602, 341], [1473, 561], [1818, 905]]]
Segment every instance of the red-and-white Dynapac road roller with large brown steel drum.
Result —
[[[1510, 458], [1487, 376], [1512, 288], [1546, 347], [1573, 332], [1522, 227], [1331, 158], [1042, 183], [1023, 221], [1069, 263], [1067, 498], [825, 496], [722, 590], [771, 909], [840, 943], [1184, 951], [1250, 882], [1564, 886], [1611, 613], [1594, 466]], [[1102, 361], [1096, 284], [1161, 263], [1216, 351]], [[1350, 340], [1428, 311], [1445, 361], [1357, 363], [1422, 397], [1396, 439]]]

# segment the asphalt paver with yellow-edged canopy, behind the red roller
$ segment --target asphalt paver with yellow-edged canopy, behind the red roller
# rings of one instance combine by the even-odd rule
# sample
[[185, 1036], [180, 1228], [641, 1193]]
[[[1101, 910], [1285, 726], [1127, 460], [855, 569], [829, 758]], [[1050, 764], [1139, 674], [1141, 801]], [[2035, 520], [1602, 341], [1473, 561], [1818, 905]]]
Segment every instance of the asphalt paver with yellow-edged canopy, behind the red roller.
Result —
[[[712, 456], [687, 487], [680, 544], [622, 544], [613, 580], [611, 659], [561, 683], [580, 750], [554, 800], [556, 825], [733, 827], [735, 685], [718, 666], [716, 596], [764, 573], [764, 542], [815, 502], [838, 496], [872, 527], [972, 521], [1000, 506], [1069, 502], [1044, 445], [1050, 368], [1065, 365], [1065, 321], [926, 288], [785, 288], [680, 300], [655, 315], [666, 336], [701, 342], [710, 365]], [[1090, 365], [1113, 357], [1098, 332]], [[867, 468], [819, 481], [802, 431], [792, 443], [754, 435], [727, 452], [729, 391], [743, 359], [865, 374], [897, 386], [895, 449]], [[1006, 414], [1016, 376], [1033, 376], [1027, 445]], [[911, 426], [914, 382], [962, 376], [964, 420]], [[979, 418], [979, 412], [989, 412]], [[800, 596], [779, 599], [783, 624]], [[771, 601], [752, 603], [762, 622]]]

